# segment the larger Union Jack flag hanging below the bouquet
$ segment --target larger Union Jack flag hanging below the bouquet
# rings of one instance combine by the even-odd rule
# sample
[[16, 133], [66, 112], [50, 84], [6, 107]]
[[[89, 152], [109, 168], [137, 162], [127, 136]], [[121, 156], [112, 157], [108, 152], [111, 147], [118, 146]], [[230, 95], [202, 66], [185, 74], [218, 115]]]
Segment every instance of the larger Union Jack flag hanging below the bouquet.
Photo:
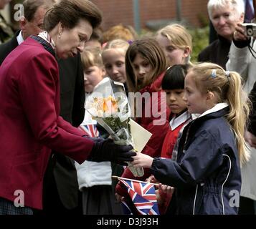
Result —
[[159, 215], [154, 185], [146, 182], [120, 179], [127, 188], [128, 194], [133, 200], [141, 215]]

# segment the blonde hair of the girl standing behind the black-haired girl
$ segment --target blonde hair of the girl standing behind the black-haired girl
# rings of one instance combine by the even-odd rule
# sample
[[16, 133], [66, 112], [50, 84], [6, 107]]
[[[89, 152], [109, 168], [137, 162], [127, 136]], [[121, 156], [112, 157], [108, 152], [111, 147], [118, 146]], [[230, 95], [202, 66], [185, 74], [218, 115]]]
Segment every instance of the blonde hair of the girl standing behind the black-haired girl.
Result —
[[[192, 36], [184, 26], [181, 26], [180, 24], [170, 24], [158, 30], [156, 35], [158, 34], [166, 36], [175, 48], [185, 49], [186, 47], [189, 47], [190, 53], [192, 52]], [[189, 64], [189, 59], [190, 56], [186, 57], [186, 64]]]

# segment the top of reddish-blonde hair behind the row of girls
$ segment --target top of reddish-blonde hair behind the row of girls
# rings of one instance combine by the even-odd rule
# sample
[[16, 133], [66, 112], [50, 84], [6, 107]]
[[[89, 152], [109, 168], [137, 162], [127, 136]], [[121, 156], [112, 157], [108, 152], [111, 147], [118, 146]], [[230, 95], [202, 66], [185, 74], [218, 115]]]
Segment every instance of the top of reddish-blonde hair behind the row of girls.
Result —
[[136, 31], [131, 26], [123, 26], [123, 24], [112, 26], [103, 33], [103, 42], [110, 42], [114, 39], [133, 41], [136, 39]]

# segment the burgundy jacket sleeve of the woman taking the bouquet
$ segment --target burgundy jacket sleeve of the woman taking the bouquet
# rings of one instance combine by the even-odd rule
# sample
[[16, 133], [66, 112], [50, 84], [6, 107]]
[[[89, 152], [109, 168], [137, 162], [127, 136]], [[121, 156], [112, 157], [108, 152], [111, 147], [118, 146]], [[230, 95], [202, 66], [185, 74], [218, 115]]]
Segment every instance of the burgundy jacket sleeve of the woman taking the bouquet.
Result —
[[39, 142], [81, 163], [90, 155], [94, 143], [57, 116], [57, 69], [57, 62], [49, 54], [41, 54], [27, 63], [27, 74], [21, 74], [19, 79], [22, 107]]

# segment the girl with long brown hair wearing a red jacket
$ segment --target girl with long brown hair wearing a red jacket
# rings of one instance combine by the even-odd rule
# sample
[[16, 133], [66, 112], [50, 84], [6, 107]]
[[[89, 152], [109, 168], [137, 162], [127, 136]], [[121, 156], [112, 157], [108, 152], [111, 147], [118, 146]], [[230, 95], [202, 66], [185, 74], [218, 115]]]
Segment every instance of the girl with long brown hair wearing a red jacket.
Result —
[[[161, 155], [164, 137], [169, 130], [169, 108], [166, 106], [166, 94], [161, 90], [161, 81], [166, 71], [166, 57], [154, 39], [144, 38], [133, 42], [125, 55], [126, 77], [129, 99], [133, 102], [136, 122], [152, 133], [143, 153], [156, 157]], [[132, 106], [131, 106], [132, 107]], [[133, 108], [133, 107], [132, 107]], [[122, 177], [146, 180], [151, 173], [144, 170], [143, 177], [134, 177], [126, 168]], [[116, 186], [117, 197], [128, 193], [120, 182]]]

